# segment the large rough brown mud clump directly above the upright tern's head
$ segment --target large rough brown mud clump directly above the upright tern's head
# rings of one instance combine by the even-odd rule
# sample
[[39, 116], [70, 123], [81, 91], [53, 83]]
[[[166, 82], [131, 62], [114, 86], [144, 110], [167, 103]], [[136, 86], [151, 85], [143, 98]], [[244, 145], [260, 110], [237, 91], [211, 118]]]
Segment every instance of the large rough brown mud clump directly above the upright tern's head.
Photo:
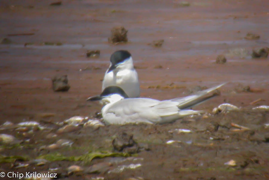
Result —
[[111, 29], [111, 36], [108, 38], [108, 42], [117, 44], [120, 42], [128, 42], [127, 32], [123, 26], [114, 27]]

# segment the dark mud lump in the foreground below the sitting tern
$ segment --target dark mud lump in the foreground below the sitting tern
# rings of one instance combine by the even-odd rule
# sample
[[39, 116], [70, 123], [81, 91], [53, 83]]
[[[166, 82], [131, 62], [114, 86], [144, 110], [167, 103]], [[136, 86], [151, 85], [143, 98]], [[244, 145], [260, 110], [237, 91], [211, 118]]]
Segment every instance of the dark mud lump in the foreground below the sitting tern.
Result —
[[129, 154], [137, 153], [139, 150], [138, 144], [133, 140], [133, 135], [128, 135], [126, 132], [122, 132], [114, 138], [112, 145], [114, 150]]

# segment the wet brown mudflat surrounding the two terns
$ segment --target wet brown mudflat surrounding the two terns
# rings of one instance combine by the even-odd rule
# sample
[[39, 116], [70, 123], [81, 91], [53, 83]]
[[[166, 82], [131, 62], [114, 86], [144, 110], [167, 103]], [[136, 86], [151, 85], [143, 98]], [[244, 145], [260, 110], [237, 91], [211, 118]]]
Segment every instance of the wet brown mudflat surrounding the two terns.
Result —
[[[100, 158], [86, 164], [83, 160], [49, 161], [43, 166], [30, 164], [18, 169], [18, 160], [1, 160], [0, 171], [54, 169], [60, 179], [269, 178], [268, 127], [264, 125], [269, 123], [268, 111], [251, 110], [269, 104], [269, 63], [267, 58], [250, 56], [253, 48], [269, 44], [268, 1], [189, 1], [188, 7], [182, 7], [181, 1], [66, 0], [60, 6], [49, 6], [51, 2], [0, 2], [0, 38], [12, 41], [0, 44], [0, 123], [31, 120], [46, 127], [23, 131], [1, 128], [1, 134], [21, 140], [19, 145], [1, 142], [1, 158], [27, 156], [28, 162], [46, 154], [77, 156], [111, 151], [112, 139], [121, 132], [133, 134], [135, 141], [148, 144], [150, 150], [129, 158]], [[108, 43], [114, 26], [128, 30], [128, 43]], [[248, 32], [260, 38], [244, 39]], [[148, 45], [160, 39], [164, 39], [162, 47]], [[56, 122], [77, 115], [92, 118], [100, 112], [101, 106], [86, 102], [86, 98], [100, 94], [109, 57], [119, 49], [132, 54], [142, 97], [164, 100], [189, 95], [198, 86], [210, 88], [227, 82], [220, 96], [195, 109], [211, 113], [219, 104], [231, 103], [242, 110], [166, 125], [79, 126], [71, 132], [57, 133], [62, 125]], [[100, 57], [87, 58], [87, 50], [100, 50]], [[218, 54], [227, 57], [225, 64], [215, 63]], [[64, 74], [71, 88], [56, 93], [51, 78]], [[250, 91], [244, 91], [246, 86]], [[250, 130], [234, 130], [231, 123]], [[171, 132], [173, 129], [190, 129], [192, 133]], [[50, 133], [56, 136], [47, 137]], [[59, 139], [74, 143], [71, 147], [40, 150]], [[175, 142], [166, 144], [169, 140]], [[224, 165], [230, 160], [235, 160], [236, 166]], [[71, 165], [86, 168], [102, 162], [110, 164], [106, 171], [67, 174], [66, 168]], [[128, 164], [141, 166], [113, 172]]]

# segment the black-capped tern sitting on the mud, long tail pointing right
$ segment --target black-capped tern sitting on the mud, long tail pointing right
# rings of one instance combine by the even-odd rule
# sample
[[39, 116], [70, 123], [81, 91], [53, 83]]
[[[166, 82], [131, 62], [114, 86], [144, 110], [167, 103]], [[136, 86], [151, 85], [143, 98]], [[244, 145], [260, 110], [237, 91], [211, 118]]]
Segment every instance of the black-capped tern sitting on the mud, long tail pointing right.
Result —
[[[224, 84], [199, 91], [186, 97], [171, 100], [155, 100], [150, 98], [128, 98], [127, 94], [118, 86], [109, 86], [100, 96], [89, 97], [87, 100], [101, 100], [105, 106], [102, 115], [106, 124], [126, 123], [170, 123], [187, 115], [200, 114], [192, 106], [198, 105], [218, 94], [208, 95]], [[204, 97], [207, 95], [207, 97]]]

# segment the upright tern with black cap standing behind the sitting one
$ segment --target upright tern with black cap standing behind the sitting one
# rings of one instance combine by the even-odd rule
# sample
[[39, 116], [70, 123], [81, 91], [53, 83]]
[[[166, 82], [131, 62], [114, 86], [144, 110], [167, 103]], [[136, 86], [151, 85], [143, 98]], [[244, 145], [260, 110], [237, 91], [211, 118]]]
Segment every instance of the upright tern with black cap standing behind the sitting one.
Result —
[[125, 50], [115, 51], [110, 57], [102, 91], [108, 86], [119, 86], [128, 97], [140, 96], [140, 85], [131, 54]]

